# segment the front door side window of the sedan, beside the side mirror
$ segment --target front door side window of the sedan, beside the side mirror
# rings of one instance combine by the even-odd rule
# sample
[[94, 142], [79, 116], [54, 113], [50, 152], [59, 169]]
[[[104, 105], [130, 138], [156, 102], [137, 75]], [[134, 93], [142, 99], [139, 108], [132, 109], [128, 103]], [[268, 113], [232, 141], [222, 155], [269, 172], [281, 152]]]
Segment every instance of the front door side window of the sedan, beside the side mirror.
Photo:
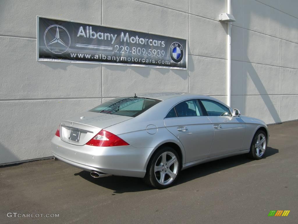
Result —
[[231, 111], [226, 106], [214, 100], [201, 99], [208, 116], [232, 116]]

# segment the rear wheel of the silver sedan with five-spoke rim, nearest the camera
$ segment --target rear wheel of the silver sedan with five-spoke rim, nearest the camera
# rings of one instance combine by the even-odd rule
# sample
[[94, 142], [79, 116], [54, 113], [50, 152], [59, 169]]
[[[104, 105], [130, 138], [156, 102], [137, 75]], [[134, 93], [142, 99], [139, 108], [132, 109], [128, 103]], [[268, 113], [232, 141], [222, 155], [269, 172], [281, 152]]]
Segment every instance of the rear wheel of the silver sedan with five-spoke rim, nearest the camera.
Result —
[[157, 149], [147, 165], [144, 181], [154, 188], [168, 188], [176, 182], [180, 165], [176, 150], [168, 146]]

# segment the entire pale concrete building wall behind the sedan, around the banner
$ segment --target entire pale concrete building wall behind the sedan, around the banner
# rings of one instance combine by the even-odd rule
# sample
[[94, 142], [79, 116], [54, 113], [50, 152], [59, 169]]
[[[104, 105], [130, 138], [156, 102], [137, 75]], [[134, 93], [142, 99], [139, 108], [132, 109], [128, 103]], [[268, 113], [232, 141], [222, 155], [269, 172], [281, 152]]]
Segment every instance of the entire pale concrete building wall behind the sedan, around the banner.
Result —
[[[232, 106], [267, 123], [298, 119], [295, 8], [232, 0]], [[61, 119], [116, 96], [182, 91], [226, 102], [222, 12], [226, 0], [0, 1], [0, 164], [51, 156]], [[37, 62], [37, 15], [185, 38], [188, 70]]]

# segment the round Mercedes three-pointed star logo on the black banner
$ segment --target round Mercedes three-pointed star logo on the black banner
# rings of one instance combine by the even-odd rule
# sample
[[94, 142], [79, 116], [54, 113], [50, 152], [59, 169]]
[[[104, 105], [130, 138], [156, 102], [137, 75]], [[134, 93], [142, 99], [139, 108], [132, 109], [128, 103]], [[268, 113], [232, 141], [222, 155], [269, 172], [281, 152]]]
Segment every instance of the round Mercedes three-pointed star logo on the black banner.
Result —
[[44, 32], [44, 44], [52, 53], [64, 53], [70, 45], [69, 33], [63, 26], [49, 26]]

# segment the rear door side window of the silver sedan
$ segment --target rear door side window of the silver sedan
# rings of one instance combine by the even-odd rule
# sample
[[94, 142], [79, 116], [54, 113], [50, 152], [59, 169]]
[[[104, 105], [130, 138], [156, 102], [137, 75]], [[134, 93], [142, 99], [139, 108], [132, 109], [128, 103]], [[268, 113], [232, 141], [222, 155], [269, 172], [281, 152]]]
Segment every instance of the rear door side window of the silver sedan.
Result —
[[173, 107], [165, 118], [203, 116], [197, 99], [186, 100]]

